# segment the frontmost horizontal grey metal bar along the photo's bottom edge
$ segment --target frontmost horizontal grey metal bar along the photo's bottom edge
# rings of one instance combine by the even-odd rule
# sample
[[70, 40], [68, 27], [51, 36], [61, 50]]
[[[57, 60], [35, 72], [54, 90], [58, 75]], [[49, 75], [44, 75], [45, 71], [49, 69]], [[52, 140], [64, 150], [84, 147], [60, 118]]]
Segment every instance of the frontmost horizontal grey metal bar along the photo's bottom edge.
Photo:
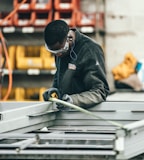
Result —
[[84, 150], [29, 150], [29, 151], [22, 151], [20, 154], [15, 154], [14, 151], [0, 151], [0, 158], [1, 159], [48, 159], [48, 160], [106, 160], [108, 157], [110, 160], [115, 160], [113, 156], [115, 153], [113, 151], [84, 151]]

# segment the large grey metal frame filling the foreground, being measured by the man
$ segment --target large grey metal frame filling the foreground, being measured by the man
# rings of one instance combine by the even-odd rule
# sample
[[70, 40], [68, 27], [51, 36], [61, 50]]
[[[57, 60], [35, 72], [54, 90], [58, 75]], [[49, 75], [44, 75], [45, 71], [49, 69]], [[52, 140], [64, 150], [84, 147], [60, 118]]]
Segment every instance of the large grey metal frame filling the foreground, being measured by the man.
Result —
[[89, 111], [105, 120], [51, 102], [1, 102], [0, 159], [144, 159], [143, 101], [109, 99]]

